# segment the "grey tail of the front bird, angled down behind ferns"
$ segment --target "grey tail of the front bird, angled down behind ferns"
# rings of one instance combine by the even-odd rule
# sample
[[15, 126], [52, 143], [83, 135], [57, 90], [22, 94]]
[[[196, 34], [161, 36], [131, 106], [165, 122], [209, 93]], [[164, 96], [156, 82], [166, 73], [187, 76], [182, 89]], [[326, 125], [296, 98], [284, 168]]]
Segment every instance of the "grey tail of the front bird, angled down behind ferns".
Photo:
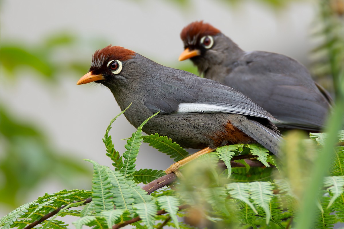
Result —
[[264, 123], [268, 124], [266, 126], [255, 120], [248, 119], [245, 116], [240, 116], [240, 118], [231, 120], [232, 125], [278, 156], [279, 147], [283, 139], [276, 126], [273, 125], [268, 119], [264, 120]]

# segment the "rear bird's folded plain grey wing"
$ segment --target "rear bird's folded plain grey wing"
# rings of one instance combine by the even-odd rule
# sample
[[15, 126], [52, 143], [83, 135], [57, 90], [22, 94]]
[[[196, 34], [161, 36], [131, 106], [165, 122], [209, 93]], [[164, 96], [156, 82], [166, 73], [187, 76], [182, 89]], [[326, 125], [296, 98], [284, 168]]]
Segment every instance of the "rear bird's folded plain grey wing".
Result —
[[247, 53], [224, 83], [251, 98], [286, 127], [322, 127], [330, 108], [308, 70], [280, 54]]

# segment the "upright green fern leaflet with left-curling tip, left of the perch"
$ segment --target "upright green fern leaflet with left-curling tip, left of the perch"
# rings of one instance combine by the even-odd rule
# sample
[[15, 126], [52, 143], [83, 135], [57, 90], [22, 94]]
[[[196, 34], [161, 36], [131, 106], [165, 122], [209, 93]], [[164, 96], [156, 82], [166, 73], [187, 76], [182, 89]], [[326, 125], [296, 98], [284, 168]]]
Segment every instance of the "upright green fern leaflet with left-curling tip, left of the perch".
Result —
[[114, 195], [110, 192], [112, 185], [110, 184], [109, 174], [107, 172], [108, 168], [92, 160], [86, 159], [85, 161], [93, 164], [92, 201], [95, 204], [96, 214], [114, 208], [114, 204], [112, 203], [112, 197]]

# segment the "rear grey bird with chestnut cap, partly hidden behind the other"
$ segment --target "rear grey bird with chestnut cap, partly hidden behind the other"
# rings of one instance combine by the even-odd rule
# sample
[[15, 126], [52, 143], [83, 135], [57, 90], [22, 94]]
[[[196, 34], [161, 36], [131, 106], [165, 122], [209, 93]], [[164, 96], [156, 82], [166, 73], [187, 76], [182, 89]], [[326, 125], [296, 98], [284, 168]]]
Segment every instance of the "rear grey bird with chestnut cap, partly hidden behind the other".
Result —
[[245, 52], [212, 25], [193, 22], [183, 28], [184, 52], [205, 78], [232, 87], [276, 117], [281, 128], [319, 131], [331, 96], [298, 61], [276, 53]]

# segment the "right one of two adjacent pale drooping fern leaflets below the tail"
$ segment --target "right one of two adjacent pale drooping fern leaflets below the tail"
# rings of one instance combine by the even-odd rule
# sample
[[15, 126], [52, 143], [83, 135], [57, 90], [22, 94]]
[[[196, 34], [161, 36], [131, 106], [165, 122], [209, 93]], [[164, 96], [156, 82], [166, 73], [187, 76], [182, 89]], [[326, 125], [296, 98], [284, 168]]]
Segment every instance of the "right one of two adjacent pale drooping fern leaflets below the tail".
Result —
[[251, 195], [250, 198], [253, 202], [262, 207], [266, 213], [266, 224], [269, 224], [271, 218], [270, 202], [273, 197], [272, 186], [270, 182], [251, 182], [250, 183]]

